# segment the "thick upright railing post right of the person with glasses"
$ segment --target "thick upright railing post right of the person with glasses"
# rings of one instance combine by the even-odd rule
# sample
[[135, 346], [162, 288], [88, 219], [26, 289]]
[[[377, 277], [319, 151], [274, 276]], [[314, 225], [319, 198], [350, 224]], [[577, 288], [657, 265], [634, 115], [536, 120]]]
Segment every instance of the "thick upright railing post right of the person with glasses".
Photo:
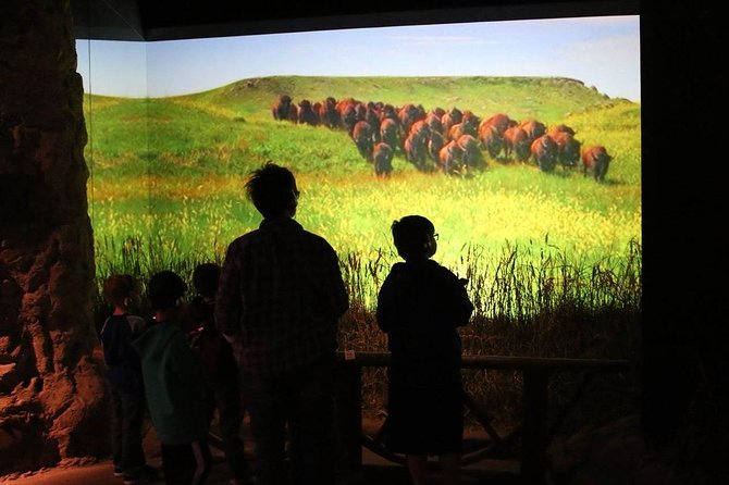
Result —
[[522, 428], [521, 478], [524, 484], [545, 483], [547, 446], [547, 384], [549, 371], [527, 368], [524, 378], [524, 421]]

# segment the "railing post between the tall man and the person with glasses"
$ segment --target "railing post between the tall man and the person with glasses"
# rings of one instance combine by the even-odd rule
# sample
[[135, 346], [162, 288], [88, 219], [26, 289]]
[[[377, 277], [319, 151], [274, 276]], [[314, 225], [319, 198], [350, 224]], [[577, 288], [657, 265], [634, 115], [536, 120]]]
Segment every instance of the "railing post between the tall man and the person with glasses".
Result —
[[337, 469], [343, 475], [362, 470], [362, 368], [339, 361], [336, 385]]

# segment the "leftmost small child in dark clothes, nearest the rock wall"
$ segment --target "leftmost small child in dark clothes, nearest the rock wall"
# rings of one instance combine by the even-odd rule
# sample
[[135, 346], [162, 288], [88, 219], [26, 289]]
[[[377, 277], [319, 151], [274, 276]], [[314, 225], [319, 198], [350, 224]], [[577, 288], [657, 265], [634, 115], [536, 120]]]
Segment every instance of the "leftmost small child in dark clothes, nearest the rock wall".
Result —
[[103, 296], [113, 307], [100, 338], [111, 384], [114, 476], [127, 485], [152, 483], [159, 474], [147, 465], [141, 446], [147, 400], [139, 355], [132, 347], [145, 329], [145, 320], [131, 313], [139, 302], [139, 284], [134, 276], [114, 274], [104, 281]]

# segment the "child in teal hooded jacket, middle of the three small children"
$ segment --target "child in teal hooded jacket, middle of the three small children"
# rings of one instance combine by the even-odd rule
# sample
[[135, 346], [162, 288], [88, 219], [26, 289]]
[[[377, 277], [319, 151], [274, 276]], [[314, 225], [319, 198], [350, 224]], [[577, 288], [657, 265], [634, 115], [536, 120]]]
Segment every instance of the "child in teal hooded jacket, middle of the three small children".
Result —
[[205, 483], [212, 462], [202, 366], [178, 321], [186, 289], [172, 271], [152, 275], [147, 287], [152, 322], [134, 343], [141, 356], [149, 413], [170, 485]]

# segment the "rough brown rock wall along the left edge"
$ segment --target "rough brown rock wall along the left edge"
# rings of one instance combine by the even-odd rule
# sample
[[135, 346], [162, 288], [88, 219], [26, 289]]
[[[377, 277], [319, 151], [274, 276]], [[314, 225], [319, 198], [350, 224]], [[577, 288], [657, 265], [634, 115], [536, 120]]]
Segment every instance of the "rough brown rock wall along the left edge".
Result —
[[67, 0], [0, 2], [0, 475], [109, 452]]

